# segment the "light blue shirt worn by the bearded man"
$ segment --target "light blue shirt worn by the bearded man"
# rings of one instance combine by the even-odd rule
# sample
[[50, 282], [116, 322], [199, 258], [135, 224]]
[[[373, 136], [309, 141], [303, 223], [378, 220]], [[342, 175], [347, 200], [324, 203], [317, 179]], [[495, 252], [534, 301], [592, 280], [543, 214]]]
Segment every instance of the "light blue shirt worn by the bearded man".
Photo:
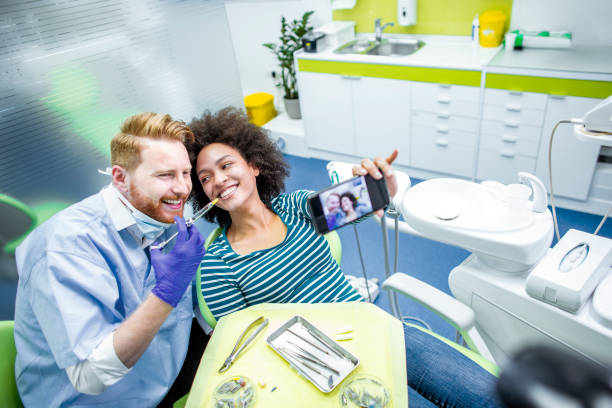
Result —
[[189, 342], [191, 288], [132, 370], [100, 395], [81, 394], [65, 368], [86, 360], [155, 285], [129, 211], [109, 188], [56, 214], [17, 248], [15, 378], [26, 407], [153, 407]]

